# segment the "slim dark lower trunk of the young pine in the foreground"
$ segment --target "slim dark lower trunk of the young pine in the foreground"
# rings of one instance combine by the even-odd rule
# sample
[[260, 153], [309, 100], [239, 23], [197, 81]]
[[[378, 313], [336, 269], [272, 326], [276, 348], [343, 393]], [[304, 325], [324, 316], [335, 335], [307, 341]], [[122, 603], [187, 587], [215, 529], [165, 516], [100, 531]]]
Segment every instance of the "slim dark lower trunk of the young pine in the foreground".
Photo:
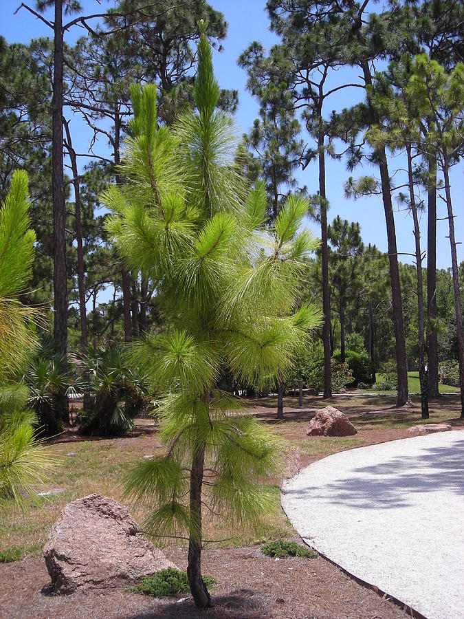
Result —
[[201, 578], [201, 488], [203, 486], [203, 466], [205, 448], [198, 447], [192, 459], [190, 473], [190, 520], [191, 529], [188, 540], [187, 576], [193, 600], [199, 608], [212, 606], [211, 596]]

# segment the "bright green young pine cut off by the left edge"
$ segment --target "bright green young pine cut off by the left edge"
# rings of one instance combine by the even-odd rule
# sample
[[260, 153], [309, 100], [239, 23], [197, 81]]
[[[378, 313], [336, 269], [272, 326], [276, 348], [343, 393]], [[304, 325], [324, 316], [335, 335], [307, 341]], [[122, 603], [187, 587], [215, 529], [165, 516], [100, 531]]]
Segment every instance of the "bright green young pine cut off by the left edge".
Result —
[[23, 503], [35, 497], [53, 462], [34, 437], [32, 412], [25, 409], [28, 391], [14, 377], [38, 347], [31, 327], [36, 311], [21, 304], [18, 293], [29, 279], [35, 235], [30, 219], [27, 174], [16, 171], [0, 208], [0, 500]]

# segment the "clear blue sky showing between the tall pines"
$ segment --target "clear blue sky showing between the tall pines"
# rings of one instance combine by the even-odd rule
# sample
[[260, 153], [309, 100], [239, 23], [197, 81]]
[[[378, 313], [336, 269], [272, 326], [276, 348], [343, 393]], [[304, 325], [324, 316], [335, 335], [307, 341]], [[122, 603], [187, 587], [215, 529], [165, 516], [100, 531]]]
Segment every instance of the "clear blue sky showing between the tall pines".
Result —
[[[27, 43], [31, 38], [37, 36], [49, 36], [50, 31], [47, 27], [38, 21], [32, 14], [24, 9], [21, 9], [19, 14], [13, 16], [14, 10], [19, 6], [19, 0], [1, 0], [0, 17], [1, 26], [0, 32], [10, 42], [21, 41]], [[243, 133], [250, 129], [254, 118], [258, 113], [258, 106], [253, 98], [245, 89], [246, 74], [236, 65], [236, 59], [239, 54], [255, 39], [260, 41], [265, 47], [270, 47], [277, 42], [276, 36], [269, 32], [267, 14], [265, 13], [265, 0], [210, 0], [214, 8], [220, 10], [225, 15], [228, 21], [228, 37], [223, 41], [224, 50], [222, 53], [214, 54], [214, 69], [221, 87], [236, 88], [239, 90], [239, 109], [236, 113], [236, 124], [239, 131]], [[33, 2], [32, 2], [33, 4]], [[99, 5], [94, 0], [84, 0], [82, 2], [85, 12], [100, 12], [105, 6], [112, 6], [112, 3], [102, 2]], [[85, 34], [80, 28], [74, 30], [67, 35], [67, 42], [73, 43], [78, 37]], [[354, 69], [341, 69], [338, 75], [335, 76], [337, 81], [342, 82], [347, 78], [352, 81], [356, 79]], [[331, 109], [340, 109], [346, 107], [353, 102], [359, 100], [362, 96], [361, 89], [347, 89], [342, 91], [338, 97], [335, 95], [329, 100], [327, 112]], [[82, 152], [82, 149], [87, 149], [88, 134], [83, 123], [79, 118], [74, 118], [71, 121], [71, 129], [75, 135], [75, 142]], [[105, 144], [100, 144], [101, 149], [106, 149]], [[390, 159], [390, 173], [393, 173], [395, 168], [401, 168], [404, 162], [401, 157]], [[377, 169], [362, 169], [356, 170], [353, 176], [362, 174], [377, 175]], [[357, 202], [344, 199], [343, 183], [350, 173], [346, 171], [342, 162], [335, 162], [327, 159], [327, 197], [330, 202], [329, 221], [336, 215], [349, 221], [359, 221], [362, 228], [362, 237], [364, 242], [375, 243], [377, 247], [386, 251], [386, 226], [384, 209], [382, 202], [377, 197], [360, 199]], [[310, 193], [316, 193], [318, 188], [318, 171], [317, 164], [313, 162], [307, 169], [298, 173], [298, 181], [302, 185], [306, 185]], [[464, 241], [464, 224], [463, 224], [463, 204], [462, 197], [464, 195], [463, 183], [463, 166], [455, 166], [452, 170], [452, 194], [454, 197], [454, 212], [458, 217], [455, 218], [456, 240]], [[438, 217], [445, 217], [445, 204], [439, 200]], [[426, 213], [422, 216], [421, 232], [423, 246], [426, 244]], [[412, 235], [412, 218], [406, 213], [395, 213], [395, 223], [397, 226], [397, 244], [399, 252], [412, 253], [414, 252], [414, 237]], [[313, 228], [319, 236], [316, 224], [308, 222], [309, 227]], [[450, 241], [446, 238], [448, 234], [448, 221], [439, 221], [437, 225], [437, 267], [448, 268], [451, 264], [450, 259]], [[401, 261], [412, 262], [412, 257], [400, 256]], [[463, 245], [458, 245], [459, 261], [464, 259]]]

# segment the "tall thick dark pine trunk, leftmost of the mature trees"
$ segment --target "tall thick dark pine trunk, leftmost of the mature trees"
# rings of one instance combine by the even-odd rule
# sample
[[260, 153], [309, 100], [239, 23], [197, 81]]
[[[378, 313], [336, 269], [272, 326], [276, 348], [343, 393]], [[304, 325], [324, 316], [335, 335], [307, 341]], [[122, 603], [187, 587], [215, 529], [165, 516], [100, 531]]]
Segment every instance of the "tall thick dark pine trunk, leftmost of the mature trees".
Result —
[[54, 323], [57, 353], [67, 352], [66, 204], [63, 177], [63, 0], [55, 0], [52, 100], [52, 193], [54, 231]]

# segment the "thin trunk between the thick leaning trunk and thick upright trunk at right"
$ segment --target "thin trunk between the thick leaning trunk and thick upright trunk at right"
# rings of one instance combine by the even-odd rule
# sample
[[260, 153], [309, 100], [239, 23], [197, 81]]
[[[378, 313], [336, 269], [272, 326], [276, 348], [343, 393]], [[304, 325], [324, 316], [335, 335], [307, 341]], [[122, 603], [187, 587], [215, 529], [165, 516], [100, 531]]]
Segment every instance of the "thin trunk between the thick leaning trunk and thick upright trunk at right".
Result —
[[409, 199], [414, 221], [414, 236], [416, 247], [416, 267], [417, 267], [417, 320], [419, 329], [419, 383], [421, 385], [421, 414], [422, 419], [428, 419], [428, 378], [426, 372], [426, 361], [424, 359], [424, 314], [423, 314], [423, 282], [422, 282], [422, 256], [421, 256], [421, 230], [419, 228], [419, 217], [417, 217], [416, 199], [414, 195], [414, 180], [412, 177], [412, 158], [411, 147], [406, 146], [408, 154], [408, 185]]

